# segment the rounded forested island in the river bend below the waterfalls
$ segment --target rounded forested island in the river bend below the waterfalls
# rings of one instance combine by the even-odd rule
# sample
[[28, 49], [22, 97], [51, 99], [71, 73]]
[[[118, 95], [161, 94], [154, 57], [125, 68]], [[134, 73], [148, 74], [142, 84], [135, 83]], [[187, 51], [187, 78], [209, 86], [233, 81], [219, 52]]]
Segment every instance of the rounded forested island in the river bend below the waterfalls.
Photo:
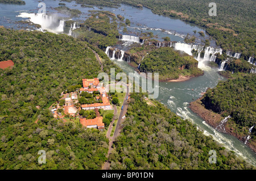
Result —
[[203, 70], [197, 68], [197, 60], [188, 54], [179, 54], [170, 47], [162, 47], [151, 51], [144, 57], [140, 71], [158, 72], [159, 79], [168, 81], [183, 76], [199, 76]]

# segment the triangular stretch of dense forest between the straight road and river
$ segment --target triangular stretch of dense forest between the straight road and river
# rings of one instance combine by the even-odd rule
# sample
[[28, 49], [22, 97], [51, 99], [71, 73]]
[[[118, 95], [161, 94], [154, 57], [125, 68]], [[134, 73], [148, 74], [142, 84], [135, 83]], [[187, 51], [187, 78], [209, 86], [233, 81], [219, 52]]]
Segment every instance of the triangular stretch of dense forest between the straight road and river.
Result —
[[[144, 96], [131, 93], [111, 169], [253, 169], [163, 104], [148, 105]], [[217, 153], [216, 164], [208, 162], [210, 150]]]

